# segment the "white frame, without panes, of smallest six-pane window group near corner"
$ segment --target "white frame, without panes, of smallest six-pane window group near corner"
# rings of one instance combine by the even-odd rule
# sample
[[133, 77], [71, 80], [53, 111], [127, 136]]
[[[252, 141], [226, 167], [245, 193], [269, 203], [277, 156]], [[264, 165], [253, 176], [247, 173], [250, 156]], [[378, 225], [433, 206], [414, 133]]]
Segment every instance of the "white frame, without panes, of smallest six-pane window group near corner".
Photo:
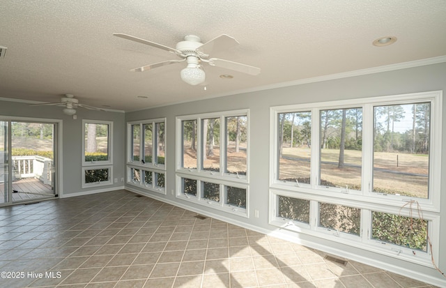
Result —
[[[163, 195], [167, 194], [167, 151], [164, 149], [164, 164], [159, 164], [154, 161], [154, 159], [158, 159], [159, 155], [157, 155], [157, 124], [164, 123], [164, 147], [167, 147], [167, 119], [157, 118], [157, 119], [144, 119], [138, 121], [128, 121], [127, 123], [127, 153], [126, 153], [126, 183], [129, 185], [134, 185], [139, 188], [143, 188], [145, 190], [150, 190], [152, 192], [157, 192]], [[141, 160], [141, 152], [144, 153], [144, 144], [145, 139], [142, 137], [144, 131], [144, 125], [151, 124], [152, 125], [152, 161], [151, 162], [143, 162]], [[139, 131], [141, 131], [141, 137], [139, 137], [139, 160], [134, 161], [133, 158], [133, 126], [139, 125]], [[144, 156], [142, 156], [144, 157]], [[132, 169], [139, 169], [140, 179], [138, 182], [134, 181]], [[146, 172], [152, 173], [152, 183], [145, 182], [145, 174]], [[164, 187], [160, 187], [157, 185], [157, 174], [164, 174]]]

